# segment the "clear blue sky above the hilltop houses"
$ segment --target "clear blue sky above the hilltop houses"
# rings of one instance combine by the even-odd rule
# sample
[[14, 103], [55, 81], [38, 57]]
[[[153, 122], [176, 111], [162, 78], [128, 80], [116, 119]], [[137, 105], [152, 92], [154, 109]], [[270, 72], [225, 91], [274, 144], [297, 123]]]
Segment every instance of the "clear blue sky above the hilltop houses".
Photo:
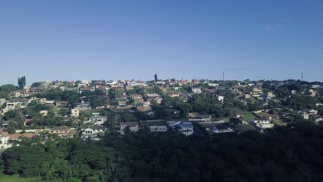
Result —
[[323, 81], [323, 1], [2, 0], [0, 84]]

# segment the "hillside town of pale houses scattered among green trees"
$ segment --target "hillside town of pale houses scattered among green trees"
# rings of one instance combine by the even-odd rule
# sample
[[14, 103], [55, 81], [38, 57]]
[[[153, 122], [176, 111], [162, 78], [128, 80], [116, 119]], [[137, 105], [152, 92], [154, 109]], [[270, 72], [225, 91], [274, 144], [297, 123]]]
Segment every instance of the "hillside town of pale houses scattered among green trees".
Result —
[[107, 132], [266, 132], [323, 121], [323, 83], [300, 80], [39, 81], [0, 87], [0, 148]]

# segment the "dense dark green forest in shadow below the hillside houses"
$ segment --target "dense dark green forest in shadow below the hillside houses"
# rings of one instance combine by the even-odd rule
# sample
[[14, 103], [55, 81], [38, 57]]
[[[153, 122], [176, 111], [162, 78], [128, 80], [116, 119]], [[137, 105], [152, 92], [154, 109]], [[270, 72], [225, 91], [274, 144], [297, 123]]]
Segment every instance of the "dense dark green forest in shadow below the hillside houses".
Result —
[[39, 181], [323, 181], [323, 128], [264, 134], [140, 131], [101, 141], [22, 141], [1, 154], [5, 174]]

